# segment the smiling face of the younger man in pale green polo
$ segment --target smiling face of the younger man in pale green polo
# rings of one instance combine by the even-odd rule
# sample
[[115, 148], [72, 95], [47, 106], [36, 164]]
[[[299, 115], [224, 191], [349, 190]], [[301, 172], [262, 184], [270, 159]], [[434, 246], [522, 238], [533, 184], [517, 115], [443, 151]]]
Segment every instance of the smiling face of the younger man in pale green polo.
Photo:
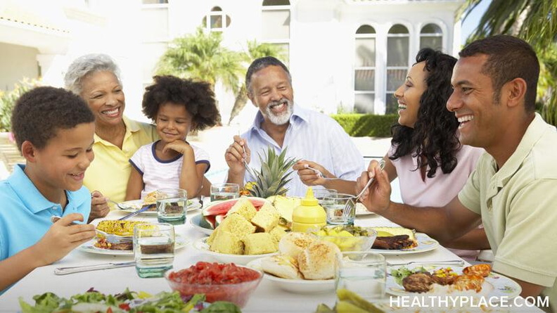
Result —
[[459, 120], [462, 144], [489, 148], [496, 146], [507, 127], [505, 106], [495, 103], [492, 79], [482, 73], [487, 56], [480, 54], [460, 58], [454, 66], [454, 88], [447, 109]]

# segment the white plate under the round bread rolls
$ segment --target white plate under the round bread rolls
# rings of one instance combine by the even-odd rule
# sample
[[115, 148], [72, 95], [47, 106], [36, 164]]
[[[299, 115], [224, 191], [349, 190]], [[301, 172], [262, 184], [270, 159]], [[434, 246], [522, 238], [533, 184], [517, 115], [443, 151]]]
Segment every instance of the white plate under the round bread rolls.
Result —
[[[261, 270], [262, 257], [252, 260], [248, 263], [248, 267]], [[305, 279], [281, 279], [267, 273], [264, 274], [263, 279], [271, 281], [275, 286], [290, 293], [327, 293], [335, 290], [335, 280], [327, 279], [320, 281], [309, 281]]]

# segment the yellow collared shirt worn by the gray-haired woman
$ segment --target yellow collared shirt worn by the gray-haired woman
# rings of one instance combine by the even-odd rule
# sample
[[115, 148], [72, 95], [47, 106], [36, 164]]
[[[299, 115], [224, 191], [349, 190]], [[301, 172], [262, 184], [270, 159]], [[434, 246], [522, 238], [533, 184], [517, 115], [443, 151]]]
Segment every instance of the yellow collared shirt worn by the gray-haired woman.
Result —
[[158, 134], [152, 124], [136, 122], [123, 118], [126, 134], [122, 149], [95, 134], [93, 151], [95, 160], [85, 172], [83, 184], [89, 191], [101, 191], [103, 196], [116, 202], [124, 201], [127, 181], [132, 165], [129, 159], [139, 147], [152, 143], [158, 139]]

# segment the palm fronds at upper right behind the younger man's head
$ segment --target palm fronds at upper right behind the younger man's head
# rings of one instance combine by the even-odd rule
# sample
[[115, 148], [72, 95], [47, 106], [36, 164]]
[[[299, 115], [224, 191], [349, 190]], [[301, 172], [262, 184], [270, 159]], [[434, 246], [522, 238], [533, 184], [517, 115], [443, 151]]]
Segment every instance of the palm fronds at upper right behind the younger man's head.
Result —
[[[468, 17], [482, 0], [466, 0], [459, 16]], [[492, 0], [468, 42], [511, 34], [530, 43], [541, 65], [538, 99], [546, 122], [557, 125], [557, 0]]]

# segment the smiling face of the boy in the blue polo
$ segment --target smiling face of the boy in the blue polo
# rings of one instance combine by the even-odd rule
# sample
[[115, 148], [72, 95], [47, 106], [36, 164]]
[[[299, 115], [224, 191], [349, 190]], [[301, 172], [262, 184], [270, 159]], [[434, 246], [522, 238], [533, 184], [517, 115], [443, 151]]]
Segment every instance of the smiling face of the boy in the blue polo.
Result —
[[85, 170], [95, 158], [94, 123], [77, 124], [72, 129], [58, 129], [41, 149], [34, 148], [34, 172], [30, 174], [44, 195], [59, 191], [77, 191], [83, 185]]

